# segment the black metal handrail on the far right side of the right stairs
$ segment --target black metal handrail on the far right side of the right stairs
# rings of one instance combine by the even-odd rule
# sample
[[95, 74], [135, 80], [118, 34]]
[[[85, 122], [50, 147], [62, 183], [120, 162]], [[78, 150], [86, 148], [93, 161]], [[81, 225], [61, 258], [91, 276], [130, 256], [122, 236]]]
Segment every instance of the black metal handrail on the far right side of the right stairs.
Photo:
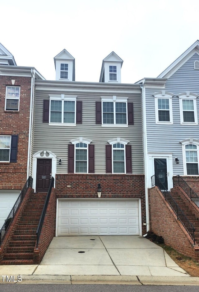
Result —
[[195, 193], [192, 188], [183, 180], [179, 175], [173, 177], [174, 186], [180, 186], [192, 202], [199, 208], [199, 196]]

